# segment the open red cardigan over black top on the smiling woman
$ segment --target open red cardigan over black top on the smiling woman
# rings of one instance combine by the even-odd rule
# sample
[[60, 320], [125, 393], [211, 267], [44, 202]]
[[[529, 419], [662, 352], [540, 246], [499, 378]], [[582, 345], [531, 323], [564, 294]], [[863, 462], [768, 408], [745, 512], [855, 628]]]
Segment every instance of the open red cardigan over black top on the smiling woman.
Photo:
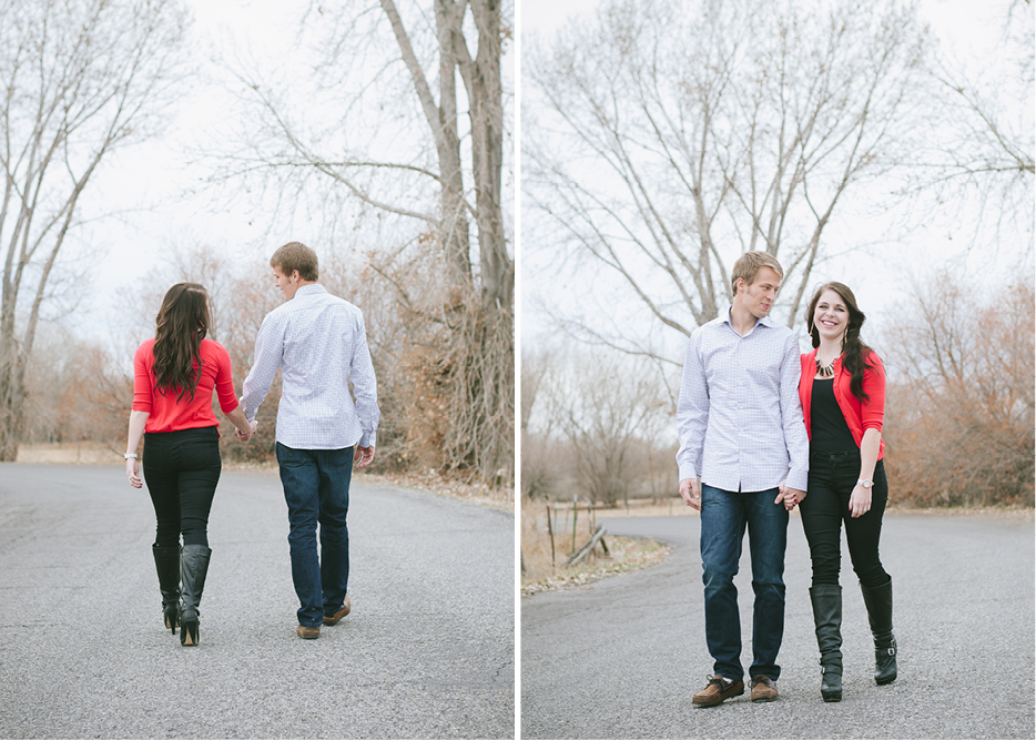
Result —
[[[867, 403], [861, 402], [852, 392], [850, 384], [852, 374], [842, 369], [842, 358], [834, 361], [834, 397], [839, 402], [839, 408], [842, 409], [842, 416], [849, 425], [849, 430], [853, 433], [853, 439], [856, 446], [863, 440], [863, 433], [866, 429], [882, 430], [882, 422], [885, 416], [885, 366], [882, 365], [882, 358], [872, 352], [866, 357], [867, 362], [874, 366], [874, 369], [863, 372], [863, 392], [869, 396]], [[813, 401], [813, 378], [816, 376], [816, 349], [802, 355], [802, 375], [799, 377], [799, 398], [802, 399], [802, 413], [805, 415], [805, 433], [810, 439], [813, 438], [813, 432], [810, 428], [811, 414], [810, 408]], [[877, 450], [877, 459], [885, 456], [885, 440], [882, 439]]]

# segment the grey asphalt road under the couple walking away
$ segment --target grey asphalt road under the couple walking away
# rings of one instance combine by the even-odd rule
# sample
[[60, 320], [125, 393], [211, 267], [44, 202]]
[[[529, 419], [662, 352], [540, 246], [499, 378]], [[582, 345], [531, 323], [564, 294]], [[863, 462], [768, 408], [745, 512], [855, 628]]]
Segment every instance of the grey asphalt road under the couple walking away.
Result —
[[301, 640], [280, 479], [225, 472], [183, 648], [146, 489], [0, 465], [0, 737], [514, 737], [514, 517], [362, 478], [351, 498], [353, 612]]

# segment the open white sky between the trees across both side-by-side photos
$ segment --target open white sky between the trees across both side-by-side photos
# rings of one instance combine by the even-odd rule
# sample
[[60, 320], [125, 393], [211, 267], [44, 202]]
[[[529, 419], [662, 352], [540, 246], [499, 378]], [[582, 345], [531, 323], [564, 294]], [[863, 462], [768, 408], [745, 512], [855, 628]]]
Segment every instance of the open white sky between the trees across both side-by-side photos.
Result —
[[[295, 43], [295, 19], [305, 8], [305, 3], [277, 0], [187, 0], [187, 3], [195, 14], [197, 48], [194, 51], [200, 57], [207, 59], [215, 49], [237, 47], [272, 62], [291, 51]], [[549, 36], [569, 18], [592, 12], [597, 4], [598, 0], [518, 0], [519, 39], [522, 32]], [[955, 47], [959, 55], [981, 58], [996, 45], [1003, 13], [992, 11], [986, 3], [924, 0], [922, 12], [936, 36]], [[508, 72], [512, 61], [514, 55], [509, 54]], [[105, 245], [105, 253], [95, 266], [98, 290], [72, 321], [77, 331], [100, 331], [111, 312], [111, 295], [139, 281], [173, 244], [204, 240], [225, 250], [234, 261], [265, 264], [273, 249], [286, 241], [298, 239], [312, 243], [305, 233], [305, 223], [278, 223], [267, 235], [267, 219], [254, 212], [254, 206], [244, 199], [232, 209], [212, 212], [203, 199], [184, 201], [180, 196], [185, 186], [203, 174], [183, 166], [182, 146], [222, 122], [220, 95], [219, 90], [197, 89], [180, 107], [162, 140], [116, 153], [88, 190], [84, 205], [93, 211], [123, 211], [134, 204], [142, 210], [119, 219], [105, 219], [88, 232], [93, 241]], [[865, 223], [851, 223], [854, 234], [866, 227]], [[831, 233], [835, 233], [833, 227]], [[875, 239], [878, 235], [875, 233]], [[945, 227], [927, 233], [920, 231], [910, 244], [897, 249], [894, 256], [875, 261], [869, 270], [860, 271], [859, 264], [835, 259], [826, 268], [830, 274], [817, 273], [815, 277], [817, 282], [839, 278], [852, 271], [853, 287], [861, 305], [884, 304], [891, 291], [902, 287], [904, 275], [923, 274], [933, 262], [959, 254], [963, 240], [959, 234], [956, 242], [951, 236], [953, 234]], [[518, 250], [520, 252], [520, 244]], [[1005, 245], [1001, 262], [1009, 262], [1014, 253], [1012, 245]], [[520, 256], [519, 260], [520, 266], [522, 262], [527, 267], [535, 266], [531, 261]], [[983, 262], [982, 255], [973, 255], [971, 263], [962, 268], [977, 270], [985, 266]], [[528, 283], [530, 277], [535, 275], [526, 272], [524, 280]], [[528, 303], [520, 304], [520, 308], [525, 337], [544, 330], [542, 317], [536, 316]]]

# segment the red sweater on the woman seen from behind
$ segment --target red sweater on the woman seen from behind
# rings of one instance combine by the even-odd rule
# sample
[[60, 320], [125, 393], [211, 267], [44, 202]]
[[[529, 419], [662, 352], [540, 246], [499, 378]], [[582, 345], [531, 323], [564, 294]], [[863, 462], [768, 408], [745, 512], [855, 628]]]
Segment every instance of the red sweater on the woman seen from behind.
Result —
[[[148, 412], [144, 432], [176, 432], [219, 426], [212, 410], [212, 391], [220, 396], [220, 408], [224, 414], [237, 408], [234, 378], [231, 375], [231, 356], [222, 345], [212, 339], [202, 339], [200, 351], [202, 374], [194, 389], [194, 399], [185, 395], [176, 401], [175, 391], [155, 391], [154, 339], [148, 339], [136, 349], [133, 357], [133, 410]], [[197, 367], [197, 365], [195, 365]]]

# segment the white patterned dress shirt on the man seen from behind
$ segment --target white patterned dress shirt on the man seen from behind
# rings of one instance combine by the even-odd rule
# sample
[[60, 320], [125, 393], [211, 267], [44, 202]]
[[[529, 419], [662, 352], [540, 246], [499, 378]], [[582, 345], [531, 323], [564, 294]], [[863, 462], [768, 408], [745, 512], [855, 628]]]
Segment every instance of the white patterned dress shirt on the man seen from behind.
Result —
[[278, 368], [277, 442], [295, 449], [374, 446], [380, 410], [359, 308], [316, 284], [266, 314], [241, 397], [250, 422]]

